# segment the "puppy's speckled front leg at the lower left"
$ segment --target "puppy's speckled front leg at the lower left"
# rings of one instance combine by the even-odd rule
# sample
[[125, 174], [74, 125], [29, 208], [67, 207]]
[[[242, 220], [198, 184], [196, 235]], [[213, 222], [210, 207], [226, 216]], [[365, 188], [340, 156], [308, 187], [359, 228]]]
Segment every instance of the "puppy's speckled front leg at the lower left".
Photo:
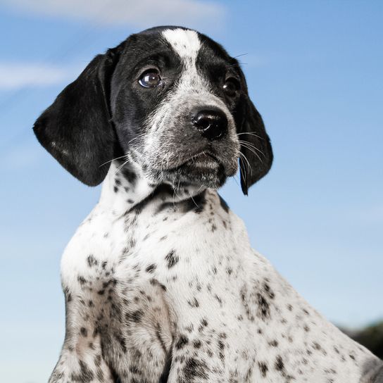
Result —
[[65, 341], [49, 383], [113, 383], [101, 352], [101, 334], [89, 297], [65, 292]]

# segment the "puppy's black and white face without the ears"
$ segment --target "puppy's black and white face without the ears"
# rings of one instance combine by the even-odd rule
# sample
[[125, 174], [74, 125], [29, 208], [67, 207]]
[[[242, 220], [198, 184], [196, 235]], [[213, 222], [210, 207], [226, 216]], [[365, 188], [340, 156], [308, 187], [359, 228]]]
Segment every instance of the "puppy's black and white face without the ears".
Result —
[[123, 150], [151, 182], [218, 187], [235, 174], [232, 113], [241, 78], [232, 64], [193, 30], [127, 40], [113, 75], [111, 113]]

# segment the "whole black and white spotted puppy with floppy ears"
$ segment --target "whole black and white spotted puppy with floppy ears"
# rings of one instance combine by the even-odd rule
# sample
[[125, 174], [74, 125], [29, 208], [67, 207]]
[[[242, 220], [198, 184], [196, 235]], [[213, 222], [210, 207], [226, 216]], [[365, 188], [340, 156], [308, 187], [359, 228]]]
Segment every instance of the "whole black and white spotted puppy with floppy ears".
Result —
[[61, 263], [66, 334], [51, 383], [383, 382], [382, 362], [253, 251], [216, 189], [272, 149], [238, 62], [156, 27], [96, 56], [34, 125], [101, 199]]

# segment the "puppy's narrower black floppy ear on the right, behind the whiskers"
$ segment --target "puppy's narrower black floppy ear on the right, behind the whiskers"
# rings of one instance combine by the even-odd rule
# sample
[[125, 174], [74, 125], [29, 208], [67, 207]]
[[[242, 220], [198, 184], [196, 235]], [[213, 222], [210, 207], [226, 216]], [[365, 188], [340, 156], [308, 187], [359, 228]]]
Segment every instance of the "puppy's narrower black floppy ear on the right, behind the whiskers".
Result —
[[239, 168], [242, 192], [247, 195], [249, 187], [270, 170], [272, 148], [263, 120], [249, 99], [247, 89], [242, 94], [241, 113], [242, 121], [238, 131], [241, 144]]

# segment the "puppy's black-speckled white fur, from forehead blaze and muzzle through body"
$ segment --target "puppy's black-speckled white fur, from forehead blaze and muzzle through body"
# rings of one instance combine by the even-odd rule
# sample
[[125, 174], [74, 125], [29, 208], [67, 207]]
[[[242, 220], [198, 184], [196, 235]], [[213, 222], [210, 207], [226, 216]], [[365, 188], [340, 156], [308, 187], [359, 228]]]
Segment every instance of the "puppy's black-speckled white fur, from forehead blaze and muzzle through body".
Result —
[[191, 105], [225, 111], [224, 155], [237, 163], [239, 151], [231, 113], [196, 68], [198, 34], [162, 36], [183, 72], [148, 116], [144, 152], [132, 145], [126, 163], [113, 161], [99, 203], [65, 249], [66, 334], [49, 382], [382, 383], [382, 361], [251, 249], [215, 189], [158, 186], [144, 169], [177, 163], [182, 136], [169, 126]]

